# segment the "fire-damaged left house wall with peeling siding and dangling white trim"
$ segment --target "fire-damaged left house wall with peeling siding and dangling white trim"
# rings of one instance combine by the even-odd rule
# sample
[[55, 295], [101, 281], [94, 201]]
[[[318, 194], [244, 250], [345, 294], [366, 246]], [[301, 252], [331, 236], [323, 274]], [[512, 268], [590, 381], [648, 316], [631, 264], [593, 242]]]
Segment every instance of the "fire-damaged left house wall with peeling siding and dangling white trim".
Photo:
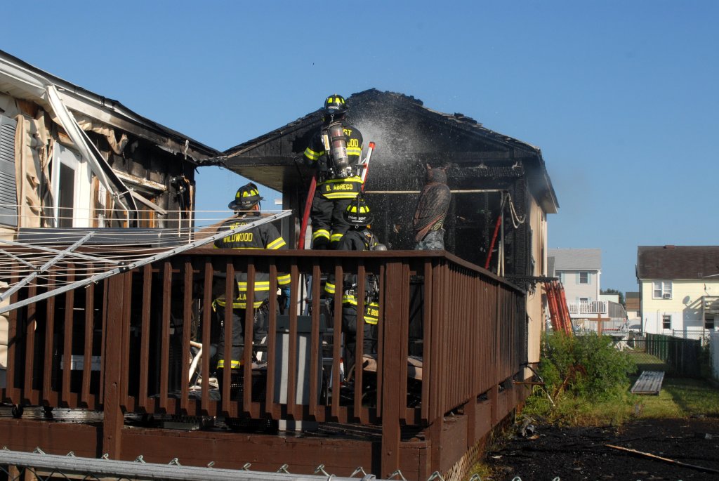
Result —
[[65, 225], [191, 224], [194, 169], [217, 150], [1, 50], [0, 92], [0, 114], [17, 122], [0, 191], [6, 227], [58, 226], [61, 197], [63, 208], [81, 209]]

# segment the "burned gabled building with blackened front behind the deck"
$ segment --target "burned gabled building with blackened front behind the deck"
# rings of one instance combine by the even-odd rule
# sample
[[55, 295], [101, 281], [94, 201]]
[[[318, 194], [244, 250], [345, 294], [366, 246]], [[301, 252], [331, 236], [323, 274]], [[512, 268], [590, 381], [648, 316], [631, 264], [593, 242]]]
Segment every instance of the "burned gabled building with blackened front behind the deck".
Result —
[[[413, 249], [411, 224], [425, 165], [446, 166], [452, 190], [446, 251], [533, 291], [532, 278], [546, 275], [547, 215], [559, 206], [539, 148], [400, 93], [370, 89], [347, 104], [349, 123], [362, 132], [365, 147], [377, 146], [365, 193], [380, 241], [393, 250]], [[303, 150], [321, 116], [319, 109], [224, 152], [229, 169], [283, 194], [284, 208], [296, 214], [294, 224], [285, 225], [293, 245], [313, 175], [303, 165]], [[529, 331], [539, 339], [541, 296], [530, 296], [527, 308], [534, 323]], [[538, 345], [528, 347], [535, 362]]]

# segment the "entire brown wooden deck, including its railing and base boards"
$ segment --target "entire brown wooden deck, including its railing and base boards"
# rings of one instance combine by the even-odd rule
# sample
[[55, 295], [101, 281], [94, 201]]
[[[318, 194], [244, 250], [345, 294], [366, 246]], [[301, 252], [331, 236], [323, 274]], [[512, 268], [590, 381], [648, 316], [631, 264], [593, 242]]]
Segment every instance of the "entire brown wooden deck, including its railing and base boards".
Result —
[[[324, 464], [338, 476], [361, 466], [386, 478], [399, 469], [408, 480], [426, 480], [433, 472], [452, 472], [476, 453], [528, 396], [526, 387], [513, 385], [523, 380], [527, 359], [525, 293], [486, 270], [437, 252], [218, 252], [229, 250], [198, 249], [12, 311], [0, 400], [27, 406], [28, 413], [0, 413], [0, 446], [129, 461], [142, 455], [161, 463], [178, 457], [183, 465], [215, 462], [229, 469], [251, 463], [267, 472], [288, 464], [293, 473], [311, 474]], [[301, 331], [297, 309], [290, 310], [287, 339], [268, 336], [267, 359], [276, 365], [286, 359], [286, 378], [267, 370], [264, 382], [244, 383], [236, 395], [230, 372], [224, 372], [219, 398], [209, 391], [191, 396], [183, 368], [191, 365], [190, 342], [210, 352], [214, 280], [219, 276], [220, 292], [233, 298], [235, 272], [249, 279], [269, 272], [271, 292], [278, 272], [290, 272], [290, 298], [304, 302], [311, 293], [310, 331]], [[365, 378], [370, 373], [357, 367], [347, 396], [326, 395], [341, 392], [339, 376], [329, 374], [339, 372], [342, 362], [342, 292], [335, 293], [325, 349], [322, 272], [357, 275], [357, 298], [365, 297], [367, 275], [380, 285], [377, 371]], [[311, 279], [306, 287], [304, 279]], [[32, 285], [16, 297], [45, 288]], [[271, 297], [269, 332], [278, 331], [277, 311]], [[252, 316], [244, 322], [242, 375], [249, 378]], [[222, 329], [232, 337], [231, 323]], [[362, 354], [358, 331], [357, 356]], [[410, 354], [423, 359], [421, 381], [408, 375]], [[64, 362], [78, 358], [100, 362], [81, 368]], [[209, 379], [209, 357], [200, 364], [201, 377]], [[52, 418], [30, 406], [52, 408]], [[321, 429], [301, 436], [221, 426], [183, 431], [138, 424], [138, 416], [303, 421]]]

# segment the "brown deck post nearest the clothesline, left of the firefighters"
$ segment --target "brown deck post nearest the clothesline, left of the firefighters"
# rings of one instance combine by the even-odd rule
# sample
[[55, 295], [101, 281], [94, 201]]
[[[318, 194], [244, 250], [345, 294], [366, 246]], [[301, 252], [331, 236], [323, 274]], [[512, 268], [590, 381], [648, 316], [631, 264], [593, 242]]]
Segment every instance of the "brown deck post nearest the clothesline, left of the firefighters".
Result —
[[130, 272], [114, 275], [109, 278], [106, 302], [110, 308], [106, 309], [105, 319], [105, 379], [104, 379], [104, 419], [102, 425], [102, 450], [111, 459], [119, 459], [122, 452], [122, 426], [124, 413], [120, 406], [120, 382], [122, 380], [122, 324], [125, 321], [125, 299], [129, 293], [125, 292], [125, 278], [132, 275]]

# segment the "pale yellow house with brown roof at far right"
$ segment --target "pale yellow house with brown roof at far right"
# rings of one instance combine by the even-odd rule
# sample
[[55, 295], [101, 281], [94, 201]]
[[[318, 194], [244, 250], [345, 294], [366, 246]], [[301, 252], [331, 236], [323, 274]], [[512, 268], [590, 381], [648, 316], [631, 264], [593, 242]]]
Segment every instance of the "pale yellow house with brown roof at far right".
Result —
[[698, 339], [719, 327], [719, 246], [639, 246], [642, 330]]

